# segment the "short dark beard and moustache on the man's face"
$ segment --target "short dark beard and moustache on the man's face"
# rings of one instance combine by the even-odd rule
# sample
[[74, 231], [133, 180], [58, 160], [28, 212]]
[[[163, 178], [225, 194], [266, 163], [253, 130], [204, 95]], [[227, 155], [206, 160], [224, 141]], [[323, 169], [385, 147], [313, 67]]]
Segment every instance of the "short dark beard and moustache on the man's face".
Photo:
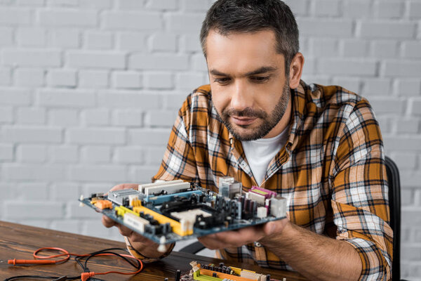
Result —
[[[290, 89], [288, 79], [285, 83], [285, 86], [282, 89], [281, 98], [279, 98], [278, 103], [272, 112], [265, 112], [263, 110], [253, 110], [250, 107], [246, 107], [245, 109], [239, 111], [234, 110], [234, 108], [227, 108], [222, 110], [222, 114], [218, 112], [222, 123], [225, 124], [228, 131], [232, 133], [232, 135], [238, 139], [239, 141], [255, 141], [259, 138], [263, 138], [266, 136], [269, 131], [274, 129], [274, 126], [281, 121], [283, 115], [285, 115], [286, 107], [288, 106], [288, 102], [290, 99]], [[231, 116], [237, 117], [250, 117], [250, 118], [258, 118], [262, 120], [262, 124], [260, 124], [257, 128], [252, 128], [250, 125], [241, 126], [241, 125], [234, 125], [229, 122], [229, 117]], [[243, 129], [247, 129], [250, 127], [250, 132], [248, 133], [240, 133], [239, 129], [236, 129], [236, 126], [239, 126]]]

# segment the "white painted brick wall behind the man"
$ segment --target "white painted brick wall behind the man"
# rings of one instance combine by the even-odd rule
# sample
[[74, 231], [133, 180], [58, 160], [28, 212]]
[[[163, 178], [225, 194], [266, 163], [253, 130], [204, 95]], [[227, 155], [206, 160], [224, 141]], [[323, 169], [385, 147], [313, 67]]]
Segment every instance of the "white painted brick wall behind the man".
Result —
[[[182, 100], [208, 81], [212, 2], [0, 1], [1, 220], [121, 239], [76, 199], [154, 174]], [[305, 81], [375, 109], [401, 171], [402, 277], [421, 280], [421, 0], [286, 2]]]

